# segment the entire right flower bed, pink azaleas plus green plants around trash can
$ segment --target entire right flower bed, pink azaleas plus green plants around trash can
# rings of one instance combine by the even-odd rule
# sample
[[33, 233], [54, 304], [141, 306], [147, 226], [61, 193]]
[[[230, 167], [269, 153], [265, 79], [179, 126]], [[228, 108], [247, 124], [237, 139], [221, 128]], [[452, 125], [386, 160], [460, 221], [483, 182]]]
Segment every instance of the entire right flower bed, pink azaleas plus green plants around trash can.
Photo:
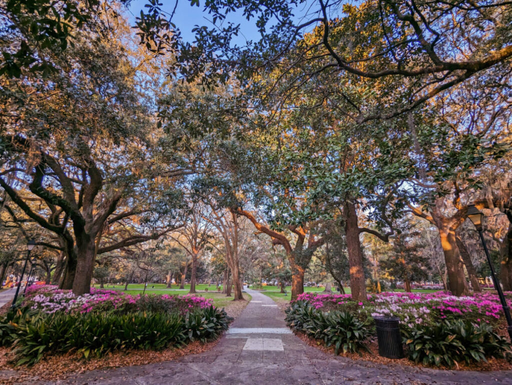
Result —
[[[510, 292], [507, 301], [512, 304]], [[340, 346], [352, 341], [355, 348], [344, 347], [343, 352], [359, 352], [374, 331], [374, 317], [397, 316], [409, 359], [426, 366], [453, 367], [462, 361], [473, 364], [489, 357], [510, 357], [502, 312], [498, 296], [490, 292], [467, 297], [442, 291], [384, 292], [369, 295], [364, 302], [353, 301], [350, 295], [305, 292], [287, 308], [286, 320], [294, 330], [329, 346], [327, 320], [343, 319], [342, 335], [338, 333], [336, 341], [343, 341]]]

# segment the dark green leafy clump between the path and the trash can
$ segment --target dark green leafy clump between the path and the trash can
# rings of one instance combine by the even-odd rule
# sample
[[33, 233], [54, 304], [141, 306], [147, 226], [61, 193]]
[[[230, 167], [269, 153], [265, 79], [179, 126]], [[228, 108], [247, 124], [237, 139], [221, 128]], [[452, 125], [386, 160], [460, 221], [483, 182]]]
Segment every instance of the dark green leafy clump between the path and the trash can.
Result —
[[291, 328], [323, 339], [327, 347], [334, 346], [335, 354], [368, 350], [365, 342], [370, 336], [369, 328], [348, 312], [322, 312], [305, 302], [296, 301], [286, 309], [285, 320]]

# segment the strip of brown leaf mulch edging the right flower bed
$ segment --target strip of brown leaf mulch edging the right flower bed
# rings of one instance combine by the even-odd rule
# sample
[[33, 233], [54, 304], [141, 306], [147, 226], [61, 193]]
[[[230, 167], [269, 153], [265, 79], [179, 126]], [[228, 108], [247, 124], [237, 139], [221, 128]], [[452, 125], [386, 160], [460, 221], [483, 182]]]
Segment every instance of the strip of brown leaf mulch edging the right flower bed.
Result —
[[[323, 351], [326, 354], [334, 354], [334, 347], [326, 348], [323, 341], [318, 341], [313, 337], [307, 336], [303, 332], [298, 332], [292, 330], [293, 333], [302, 339], [309, 346], [315, 347], [318, 350]], [[416, 364], [414, 361], [411, 361], [407, 358], [401, 359], [392, 359], [379, 356], [379, 349], [377, 345], [376, 338], [368, 344], [368, 348], [370, 349], [370, 353], [361, 352], [361, 355], [358, 353], [340, 353], [340, 355], [344, 357], [351, 358], [353, 360], [364, 360], [371, 361], [380, 365], [403, 365], [403, 366], [413, 366], [413, 367], [421, 367], [427, 368], [422, 364]], [[428, 367], [431, 369], [439, 369], [439, 370], [475, 370], [475, 371], [495, 371], [495, 370], [512, 370], [512, 363], [509, 363], [506, 359], [496, 359], [489, 358], [487, 362], [476, 363], [472, 365], [467, 365], [465, 362], [459, 363], [453, 368], [447, 367]]]

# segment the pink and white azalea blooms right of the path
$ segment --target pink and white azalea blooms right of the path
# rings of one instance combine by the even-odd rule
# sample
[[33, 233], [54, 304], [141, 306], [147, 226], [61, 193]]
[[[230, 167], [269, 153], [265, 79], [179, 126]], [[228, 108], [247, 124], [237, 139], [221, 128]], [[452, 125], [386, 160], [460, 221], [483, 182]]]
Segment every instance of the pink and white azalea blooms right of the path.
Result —
[[[506, 293], [512, 307], [512, 292]], [[449, 292], [433, 293], [383, 292], [368, 295], [363, 302], [352, 301], [350, 295], [303, 293], [297, 301], [308, 302], [315, 309], [337, 309], [354, 313], [361, 320], [375, 316], [397, 316], [404, 325], [434, 325], [443, 319], [465, 319], [475, 323], [499, 325], [503, 322], [503, 309], [497, 294], [474, 293], [473, 296], [455, 297]]]

